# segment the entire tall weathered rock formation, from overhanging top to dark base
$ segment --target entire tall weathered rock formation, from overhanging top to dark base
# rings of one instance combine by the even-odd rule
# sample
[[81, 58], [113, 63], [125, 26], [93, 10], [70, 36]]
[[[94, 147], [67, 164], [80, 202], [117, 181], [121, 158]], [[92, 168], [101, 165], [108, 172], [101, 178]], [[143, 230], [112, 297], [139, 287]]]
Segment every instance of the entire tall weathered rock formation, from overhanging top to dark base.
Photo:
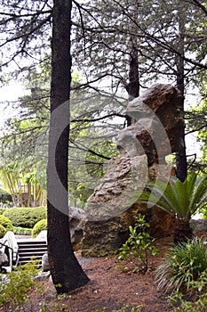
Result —
[[107, 173], [86, 204], [84, 256], [103, 256], [117, 250], [127, 238], [137, 209], [147, 215], [156, 237], [171, 234], [171, 216], [160, 209], [147, 209], [136, 200], [148, 180], [171, 176], [165, 156], [179, 151], [181, 103], [179, 90], [158, 84], [128, 104], [132, 125], [117, 136], [120, 157], [109, 161]]

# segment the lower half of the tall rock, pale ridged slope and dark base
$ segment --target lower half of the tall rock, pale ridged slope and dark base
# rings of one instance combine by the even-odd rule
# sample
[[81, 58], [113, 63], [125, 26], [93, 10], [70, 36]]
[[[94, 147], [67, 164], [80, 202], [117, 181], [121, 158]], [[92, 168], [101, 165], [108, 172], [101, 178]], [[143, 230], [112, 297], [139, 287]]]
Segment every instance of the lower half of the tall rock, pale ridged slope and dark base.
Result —
[[109, 161], [106, 175], [100, 179], [100, 185], [85, 207], [89, 221], [84, 226], [83, 256], [104, 256], [125, 242], [129, 225], [134, 223], [131, 205], [146, 182], [146, 155]]

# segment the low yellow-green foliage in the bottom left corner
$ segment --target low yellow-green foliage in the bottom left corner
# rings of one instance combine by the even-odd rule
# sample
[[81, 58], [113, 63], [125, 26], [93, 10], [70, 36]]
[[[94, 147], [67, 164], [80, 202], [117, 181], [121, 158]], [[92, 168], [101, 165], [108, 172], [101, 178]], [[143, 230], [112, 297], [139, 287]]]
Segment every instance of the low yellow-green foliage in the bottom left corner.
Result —
[[[0, 275], [0, 309], [4, 312], [11, 311], [38, 311], [39, 312], [60, 312], [68, 311], [63, 303], [66, 295], [51, 295], [48, 300], [48, 288], [44, 283], [39, 283], [37, 278], [39, 271], [36, 268], [38, 261], [29, 262], [21, 267], [16, 267], [12, 273]], [[41, 296], [41, 301], [34, 304], [30, 300], [31, 291], [36, 290], [36, 295]], [[37, 308], [37, 309], [36, 309]], [[134, 311], [135, 312], [135, 311]]]

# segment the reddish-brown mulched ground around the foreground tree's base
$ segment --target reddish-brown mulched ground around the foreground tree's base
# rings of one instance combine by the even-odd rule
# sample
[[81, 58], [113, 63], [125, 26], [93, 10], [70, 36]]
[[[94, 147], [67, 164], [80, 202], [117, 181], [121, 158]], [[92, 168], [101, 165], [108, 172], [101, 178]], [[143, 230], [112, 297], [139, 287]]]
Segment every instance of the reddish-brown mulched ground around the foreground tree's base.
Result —
[[112, 312], [121, 309], [123, 305], [128, 305], [124, 312], [131, 311], [132, 306], [139, 307], [140, 309], [136, 311], [140, 312], [171, 311], [167, 299], [163, 293], [157, 291], [155, 285], [155, 267], [162, 263], [171, 243], [171, 237], [155, 242], [155, 247], [160, 253], [150, 257], [149, 264], [154, 268], [150, 268], [146, 275], [132, 273], [133, 263], [130, 260], [123, 263], [122, 270], [117, 267], [120, 261], [115, 256], [85, 259], [77, 254], [90, 282], [58, 301], [52, 281], [49, 279], [44, 282], [41, 293], [35, 290], [30, 292], [28, 298], [30, 308], [27, 306], [25, 311], [92, 312], [99, 309]]

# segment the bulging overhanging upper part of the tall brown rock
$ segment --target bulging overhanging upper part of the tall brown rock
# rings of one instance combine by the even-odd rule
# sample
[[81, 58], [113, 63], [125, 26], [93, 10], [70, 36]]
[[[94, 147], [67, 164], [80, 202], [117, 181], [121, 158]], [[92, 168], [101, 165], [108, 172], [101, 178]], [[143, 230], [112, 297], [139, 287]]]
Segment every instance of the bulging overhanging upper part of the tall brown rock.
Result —
[[[148, 166], [171, 152], [178, 152], [184, 120], [182, 95], [171, 85], [155, 85], [127, 106], [133, 124], [119, 132], [117, 147], [121, 155], [147, 155]], [[130, 147], [131, 145], [131, 147]]]

